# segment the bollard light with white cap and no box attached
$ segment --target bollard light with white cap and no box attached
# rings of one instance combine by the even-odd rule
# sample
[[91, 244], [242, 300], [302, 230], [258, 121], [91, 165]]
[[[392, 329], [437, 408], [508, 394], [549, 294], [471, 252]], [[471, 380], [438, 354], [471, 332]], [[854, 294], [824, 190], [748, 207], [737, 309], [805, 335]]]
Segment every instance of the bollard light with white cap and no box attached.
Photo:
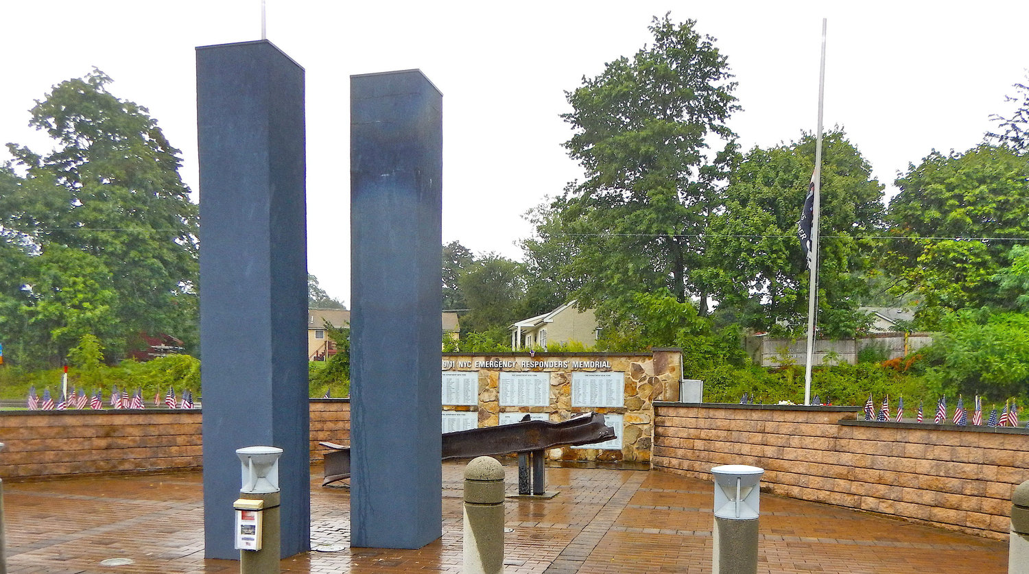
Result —
[[756, 574], [757, 483], [764, 469], [733, 464], [716, 466], [714, 474], [714, 574]]

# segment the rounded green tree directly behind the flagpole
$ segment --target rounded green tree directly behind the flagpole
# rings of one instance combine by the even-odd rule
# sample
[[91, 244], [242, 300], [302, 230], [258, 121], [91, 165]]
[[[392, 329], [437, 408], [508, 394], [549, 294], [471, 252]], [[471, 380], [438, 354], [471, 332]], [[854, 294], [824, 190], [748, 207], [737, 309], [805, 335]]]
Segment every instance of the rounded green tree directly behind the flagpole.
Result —
[[[765, 331], [807, 324], [809, 272], [796, 222], [814, 171], [815, 137], [753, 148], [734, 170], [724, 209], [711, 218], [713, 263], [699, 272], [714, 288], [719, 314]], [[857, 311], [883, 226], [883, 186], [842, 131], [823, 137], [818, 328], [853, 336], [866, 327]]]

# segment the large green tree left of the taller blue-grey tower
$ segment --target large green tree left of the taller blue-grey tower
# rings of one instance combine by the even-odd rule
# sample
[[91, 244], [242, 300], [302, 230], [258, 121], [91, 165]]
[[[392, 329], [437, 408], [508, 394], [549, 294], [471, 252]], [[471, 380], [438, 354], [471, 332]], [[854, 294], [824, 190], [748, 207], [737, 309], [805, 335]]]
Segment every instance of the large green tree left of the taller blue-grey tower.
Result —
[[[91, 330], [116, 357], [143, 332], [196, 340], [198, 210], [179, 177], [179, 151], [146, 108], [109, 93], [110, 82], [94, 70], [55, 85], [37, 101], [30, 125], [48, 134], [55, 148], [39, 154], [8, 144], [26, 175], [14, 178], [13, 189], [10, 174], [3, 178], [8, 184], [0, 204], [7, 243], [33, 257], [51, 251], [56, 259], [72, 257], [64, 250], [82, 255], [75, 260], [81, 277], [54, 265], [43, 270], [40, 262], [37, 279], [50, 286], [97, 289], [76, 291], [92, 307], [70, 309], [86, 314], [109, 309]], [[52, 277], [43, 277], [47, 274]], [[72, 311], [60, 318], [57, 310], [39, 307], [50, 295], [59, 300], [66, 295], [44, 293], [38, 286], [33, 295], [26, 307], [36, 308], [32, 312], [38, 317], [28, 326], [47, 329], [51, 338], [67, 334], [74, 345], [81, 325], [100, 320], [76, 318]], [[57, 342], [51, 360], [63, 357], [68, 340]]]

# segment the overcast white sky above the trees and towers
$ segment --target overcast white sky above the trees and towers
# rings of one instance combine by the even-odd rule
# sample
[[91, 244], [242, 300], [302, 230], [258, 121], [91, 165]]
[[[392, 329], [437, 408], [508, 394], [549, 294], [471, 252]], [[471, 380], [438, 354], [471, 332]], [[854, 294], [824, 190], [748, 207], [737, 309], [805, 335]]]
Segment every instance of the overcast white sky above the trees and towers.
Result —
[[[695, 19], [717, 38], [740, 84], [731, 125], [745, 149], [814, 132], [827, 17], [825, 125], [845, 128], [887, 192], [930, 149], [981, 141], [1029, 68], [1025, 1], [267, 5], [269, 40], [307, 70], [308, 266], [347, 303], [351, 74], [419, 68], [442, 91], [443, 241], [520, 258], [522, 214], [580, 175], [560, 145], [564, 91], [642, 47], [654, 15]], [[45, 148], [27, 125], [33, 101], [96, 66], [114, 95], [149, 108], [197, 191], [193, 47], [259, 37], [260, 0], [5, 2], [0, 143]]]

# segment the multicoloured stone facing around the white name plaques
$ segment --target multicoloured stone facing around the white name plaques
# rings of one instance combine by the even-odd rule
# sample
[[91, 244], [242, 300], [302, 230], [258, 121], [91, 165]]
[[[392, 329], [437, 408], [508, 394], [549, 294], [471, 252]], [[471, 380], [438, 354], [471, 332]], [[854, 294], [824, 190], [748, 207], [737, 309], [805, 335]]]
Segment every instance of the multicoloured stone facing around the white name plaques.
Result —
[[[516, 359], [532, 361], [608, 361], [609, 368], [461, 368], [450, 371], [478, 371], [478, 405], [445, 405], [443, 410], [477, 410], [478, 427], [499, 424], [500, 412], [545, 412], [551, 421], [565, 421], [579, 412], [596, 411], [624, 416], [622, 451], [598, 449], [553, 449], [547, 452], [551, 460], [565, 461], [630, 461], [649, 462], [653, 437], [653, 401], [678, 400], [679, 380], [682, 374], [682, 352], [679, 349], [654, 349], [651, 353], [594, 354], [594, 353], [498, 353], [494, 355], [464, 355], [445, 353], [445, 361], [490, 362]], [[551, 372], [551, 404], [548, 406], [500, 406], [500, 372]], [[571, 373], [573, 371], [625, 372], [625, 406], [573, 407], [571, 405]]]

